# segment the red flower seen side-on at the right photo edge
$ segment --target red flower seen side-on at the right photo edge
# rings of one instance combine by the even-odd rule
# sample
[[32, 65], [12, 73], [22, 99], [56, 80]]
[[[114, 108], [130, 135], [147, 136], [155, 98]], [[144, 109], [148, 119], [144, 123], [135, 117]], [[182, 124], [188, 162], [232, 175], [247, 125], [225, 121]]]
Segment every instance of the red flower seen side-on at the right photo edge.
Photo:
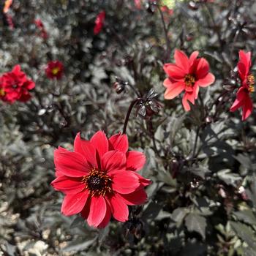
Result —
[[251, 115], [253, 105], [250, 94], [255, 91], [255, 77], [250, 73], [252, 66], [251, 52], [239, 51], [238, 75], [241, 80], [241, 86], [236, 93], [236, 100], [230, 108], [230, 111], [236, 111], [238, 108], [243, 109], [242, 120], [244, 121]]

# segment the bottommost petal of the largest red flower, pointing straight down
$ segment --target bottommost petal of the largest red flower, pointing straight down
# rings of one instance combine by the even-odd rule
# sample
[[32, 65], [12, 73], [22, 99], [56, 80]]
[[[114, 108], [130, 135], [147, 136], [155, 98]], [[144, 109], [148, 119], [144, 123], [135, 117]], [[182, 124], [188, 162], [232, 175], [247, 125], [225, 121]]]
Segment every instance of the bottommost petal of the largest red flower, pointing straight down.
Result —
[[105, 198], [91, 197], [91, 206], [87, 222], [92, 227], [98, 227], [106, 216], [107, 206]]

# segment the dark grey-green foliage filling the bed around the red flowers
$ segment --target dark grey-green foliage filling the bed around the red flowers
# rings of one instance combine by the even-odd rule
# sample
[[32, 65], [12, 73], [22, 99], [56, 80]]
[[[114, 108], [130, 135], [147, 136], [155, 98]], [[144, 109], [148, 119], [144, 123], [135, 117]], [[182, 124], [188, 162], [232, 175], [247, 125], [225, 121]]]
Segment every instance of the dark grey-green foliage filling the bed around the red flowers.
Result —
[[[251, 50], [254, 62], [256, 3], [177, 1], [173, 15], [148, 4], [14, 0], [15, 29], [1, 17], [1, 74], [20, 64], [36, 88], [26, 104], [0, 105], [0, 255], [256, 255], [255, 113], [244, 122], [230, 113], [235, 92], [227, 90], [238, 50]], [[106, 22], [95, 36], [101, 10]], [[200, 50], [216, 76], [189, 113], [180, 98], [163, 99], [162, 65], [175, 48]], [[65, 67], [57, 82], [44, 72], [54, 59]], [[72, 149], [78, 131], [121, 131], [136, 95], [131, 86], [116, 94], [116, 76], [141, 95], [159, 93], [162, 110], [149, 120], [132, 110], [127, 127], [153, 184], [129, 222], [94, 230], [61, 215], [63, 195], [50, 187], [53, 150]]]

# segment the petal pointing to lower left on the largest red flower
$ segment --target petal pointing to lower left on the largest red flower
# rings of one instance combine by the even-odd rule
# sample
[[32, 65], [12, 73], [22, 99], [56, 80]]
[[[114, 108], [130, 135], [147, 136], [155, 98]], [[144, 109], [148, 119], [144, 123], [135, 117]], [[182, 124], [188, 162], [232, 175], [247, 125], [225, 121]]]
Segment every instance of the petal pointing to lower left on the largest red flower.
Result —
[[66, 216], [80, 213], [86, 204], [88, 196], [89, 192], [86, 190], [78, 194], [67, 194], [61, 206], [61, 213]]

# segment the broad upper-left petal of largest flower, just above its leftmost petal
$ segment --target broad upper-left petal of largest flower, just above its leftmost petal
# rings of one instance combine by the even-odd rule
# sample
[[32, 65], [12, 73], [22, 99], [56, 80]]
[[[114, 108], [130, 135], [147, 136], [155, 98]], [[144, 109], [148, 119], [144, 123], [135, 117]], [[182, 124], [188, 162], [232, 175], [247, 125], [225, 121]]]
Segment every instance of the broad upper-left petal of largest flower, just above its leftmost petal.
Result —
[[54, 163], [56, 169], [69, 177], [83, 177], [90, 171], [86, 159], [81, 154], [61, 147], [54, 151]]

